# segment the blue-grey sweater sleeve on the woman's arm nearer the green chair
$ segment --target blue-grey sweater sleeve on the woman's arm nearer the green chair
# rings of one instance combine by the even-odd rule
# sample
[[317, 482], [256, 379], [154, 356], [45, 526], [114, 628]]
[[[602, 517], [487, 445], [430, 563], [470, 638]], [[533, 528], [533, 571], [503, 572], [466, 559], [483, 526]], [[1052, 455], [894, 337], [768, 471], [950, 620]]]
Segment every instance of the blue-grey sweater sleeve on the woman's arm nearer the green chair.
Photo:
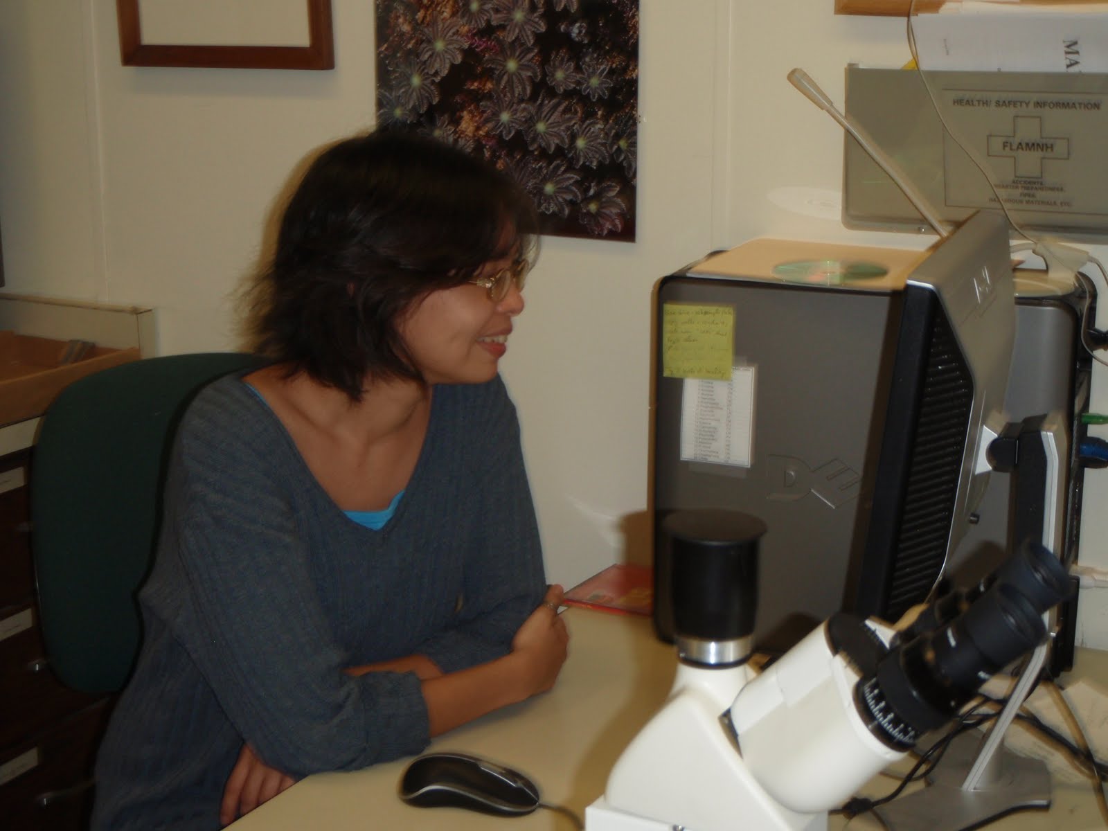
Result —
[[418, 678], [341, 671], [311, 552], [271, 465], [263, 449], [228, 442], [217, 427], [194, 418], [182, 430], [165, 499], [164, 573], [145, 599], [267, 763], [301, 776], [419, 752], [429, 728]]

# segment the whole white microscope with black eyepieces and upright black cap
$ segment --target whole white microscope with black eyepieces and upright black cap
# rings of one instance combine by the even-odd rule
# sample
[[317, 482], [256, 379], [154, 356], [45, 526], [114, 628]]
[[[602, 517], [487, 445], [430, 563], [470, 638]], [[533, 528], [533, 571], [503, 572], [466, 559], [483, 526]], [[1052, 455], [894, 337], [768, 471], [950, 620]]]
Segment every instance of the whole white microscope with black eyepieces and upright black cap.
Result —
[[587, 831], [822, 831], [830, 810], [1042, 644], [1046, 613], [1073, 591], [1059, 561], [1028, 541], [979, 591], [923, 608], [901, 630], [839, 613], [756, 674], [765, 524], [702, 510], [669, 515], [664, 530], [677, 677], [586, 809]]

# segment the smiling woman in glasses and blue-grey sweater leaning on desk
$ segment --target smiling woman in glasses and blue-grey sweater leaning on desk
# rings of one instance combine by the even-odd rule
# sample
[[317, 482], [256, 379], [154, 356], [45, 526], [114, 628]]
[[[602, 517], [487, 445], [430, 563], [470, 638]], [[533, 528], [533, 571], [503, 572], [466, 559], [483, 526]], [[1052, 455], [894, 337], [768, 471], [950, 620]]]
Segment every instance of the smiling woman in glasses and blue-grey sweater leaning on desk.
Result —
[[94, 828], [216, 829], [553, 686], [561, 588], [497, 375], [535, 233], [507, 177], [431, 140], [311, 164], [256, 287], [274, 362], [178, 431]]

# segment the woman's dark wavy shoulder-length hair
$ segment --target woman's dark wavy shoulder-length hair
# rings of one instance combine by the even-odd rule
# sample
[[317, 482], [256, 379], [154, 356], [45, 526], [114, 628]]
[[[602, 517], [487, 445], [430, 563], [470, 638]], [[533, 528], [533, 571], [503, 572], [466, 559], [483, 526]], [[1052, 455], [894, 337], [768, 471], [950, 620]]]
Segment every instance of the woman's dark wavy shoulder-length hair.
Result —
[[285, 209], [249, 297], [253, 348], [355, 401], [367, 378], [422, 380], [403, 316], [489, 260], [533, 260], [537, 243], [534, 203], [491, 164], [412, 133], [347, 138], [311, 163]]

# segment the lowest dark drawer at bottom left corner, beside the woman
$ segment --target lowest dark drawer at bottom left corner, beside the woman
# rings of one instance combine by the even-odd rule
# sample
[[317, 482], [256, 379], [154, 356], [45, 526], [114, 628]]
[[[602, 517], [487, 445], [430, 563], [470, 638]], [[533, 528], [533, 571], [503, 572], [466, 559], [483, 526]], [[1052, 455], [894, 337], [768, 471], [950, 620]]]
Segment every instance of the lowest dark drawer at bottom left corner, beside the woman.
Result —
[[[92, 769], [111, 702], [89, 707], [0, 755], [0, 817], [9, 831], [88, 828]], [[10, 778], [9, 778], [10, 777]]]

